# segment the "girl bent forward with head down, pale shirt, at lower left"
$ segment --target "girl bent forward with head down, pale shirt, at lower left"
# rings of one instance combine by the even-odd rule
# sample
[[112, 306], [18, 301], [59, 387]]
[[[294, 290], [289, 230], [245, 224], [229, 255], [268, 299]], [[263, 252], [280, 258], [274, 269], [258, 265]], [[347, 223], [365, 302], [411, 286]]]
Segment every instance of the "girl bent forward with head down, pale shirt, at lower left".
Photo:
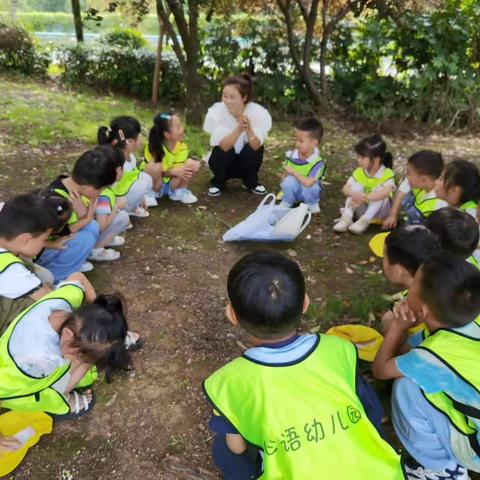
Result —
[[[93, 406], [90, 390], [76, 391], [95, 380], [92, 365], [104, 368], [107, 380], [129, 366], [121, 300], [95, 298], [90, 284], [76, 280], [72, 276], [24, 310], [0, 337], [3, 408], [76, 418]], [[82, 307], [84, 300], [92, 303]]]

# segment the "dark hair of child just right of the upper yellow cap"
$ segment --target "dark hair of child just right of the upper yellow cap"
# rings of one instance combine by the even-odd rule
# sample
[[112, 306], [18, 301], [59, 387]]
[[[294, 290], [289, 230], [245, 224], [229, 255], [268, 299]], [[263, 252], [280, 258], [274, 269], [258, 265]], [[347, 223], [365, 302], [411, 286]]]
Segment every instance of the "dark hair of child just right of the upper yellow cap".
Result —
[[388, 262], [401, 265], [414, 276], [423, 262], [440, 250], [438, 238], [422, 225], [403, 225], [385, 239]]

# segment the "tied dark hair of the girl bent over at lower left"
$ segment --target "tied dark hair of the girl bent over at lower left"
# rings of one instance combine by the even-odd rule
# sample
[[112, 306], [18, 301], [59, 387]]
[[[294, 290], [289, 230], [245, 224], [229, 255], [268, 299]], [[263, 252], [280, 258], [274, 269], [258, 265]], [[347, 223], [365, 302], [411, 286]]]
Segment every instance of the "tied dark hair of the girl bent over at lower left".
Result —
[[72, 347], [84, 361], [105, 370], [107, 382], [112, 373], [129, 369], [130, 355], [124, 345], [128, 325], [119, 295], [99, 295], [72, 313], [60, 331], [64, 328], [72, 330]]

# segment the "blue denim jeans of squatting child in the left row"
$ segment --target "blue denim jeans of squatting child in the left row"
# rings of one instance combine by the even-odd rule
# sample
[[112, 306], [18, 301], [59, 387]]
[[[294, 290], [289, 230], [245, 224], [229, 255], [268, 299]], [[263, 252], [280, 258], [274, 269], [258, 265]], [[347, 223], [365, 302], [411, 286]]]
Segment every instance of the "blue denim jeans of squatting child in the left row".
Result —
[[65, 280], [70, 274], [78, 272], [82, 263], [90, 255], [100, 236], [98, 223], [92, 220], [75, 233], [65, 250], [45, 249], [36, 263], [52, 272], [55, 283]]

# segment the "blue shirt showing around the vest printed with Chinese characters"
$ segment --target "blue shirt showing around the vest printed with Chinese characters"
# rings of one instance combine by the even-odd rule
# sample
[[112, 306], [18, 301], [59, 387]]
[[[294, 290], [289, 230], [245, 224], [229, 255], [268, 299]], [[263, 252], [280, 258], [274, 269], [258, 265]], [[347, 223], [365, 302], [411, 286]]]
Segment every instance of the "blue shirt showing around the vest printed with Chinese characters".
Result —
[[[270, 365], [292, 363], [308, 355], [308, 353], [315, 348], [316, 340], [317, 335], [294, 335], [282, 342], [250, 348], [244, 353], [244, 356]], [[321, 346], [319, 348], [321, 348]], [[358, 373], [358, 367], [356, 393], [362, 402], [367, 417], [382, 437], [384, 437], [382, 431], [382, 404], [372, 387], [366, 382], [360, 373]], [[220, 434], [239, 434], [238, 430], [236, 430], [236, 428], [225, 417], [215, 410], [210, 418], [209, 428], [213, 432]]]

